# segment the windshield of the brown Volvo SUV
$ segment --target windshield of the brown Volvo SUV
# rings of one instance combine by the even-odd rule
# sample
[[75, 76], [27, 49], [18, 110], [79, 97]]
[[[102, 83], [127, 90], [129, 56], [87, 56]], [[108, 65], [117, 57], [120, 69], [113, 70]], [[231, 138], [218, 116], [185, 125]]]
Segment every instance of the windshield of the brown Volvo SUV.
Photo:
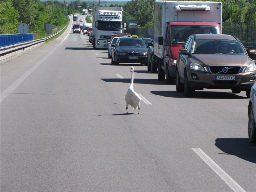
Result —
[[246, 55], [246, 51], [239, 41], [226, 39], [200, 39], [194, 42], [192, 54]]

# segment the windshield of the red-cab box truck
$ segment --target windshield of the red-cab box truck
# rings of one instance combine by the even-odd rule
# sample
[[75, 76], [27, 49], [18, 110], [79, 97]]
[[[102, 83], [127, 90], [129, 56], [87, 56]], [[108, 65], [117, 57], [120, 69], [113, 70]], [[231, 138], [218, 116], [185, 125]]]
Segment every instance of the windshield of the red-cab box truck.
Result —
[[219, 34], [219, 26], [173, 25], [171, 31], [172, 44], [183, 44], [188, 36], [201, 33]]

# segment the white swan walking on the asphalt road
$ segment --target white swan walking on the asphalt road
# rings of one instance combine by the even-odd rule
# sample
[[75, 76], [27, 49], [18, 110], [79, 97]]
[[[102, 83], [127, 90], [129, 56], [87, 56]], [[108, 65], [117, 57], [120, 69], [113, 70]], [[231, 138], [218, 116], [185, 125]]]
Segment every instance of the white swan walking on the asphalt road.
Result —
[[134, 71], [134, 67], [131, 67], [131, 70], [130, 70], [130, 72], [132, 72], [131, 84], [124, 96], [124, 100], [126, 101], [126, 114], [128, 114], [127, 109], [128, 109], [128, 105], [130, 105], [135, 110], [139, 109], [138, 115], [140, 115], [141, 98], [139, 94], [133, 90], [133, 71]]

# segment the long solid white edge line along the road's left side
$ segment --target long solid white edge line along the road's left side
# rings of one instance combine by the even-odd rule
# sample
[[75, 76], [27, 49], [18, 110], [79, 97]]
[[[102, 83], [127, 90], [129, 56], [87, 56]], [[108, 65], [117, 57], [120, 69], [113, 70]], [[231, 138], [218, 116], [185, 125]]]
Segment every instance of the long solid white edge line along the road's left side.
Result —
[[[71, 25], [72, 28], [72, 25]], [[71, 30], [70, 28], [70, 30]], [[69, 35], [69, 33], [68, 33]], [[8, 97], [33, 71], [36, 70], [43, 62], [46, 60], [52, 53], [65, 41], [65, 39], [68, 37], [68, 35], [58, 44], [51, 52], [49, 52], [44, 58], [42, 58], [40, 61], [38, 61], [32, 68], [28, 69], [27, 72], [25, 72], [20, 78], [18, 78], [13, 84], [11, 84], [7, 89], [5, 89], [0, 94], [0, 103]]]

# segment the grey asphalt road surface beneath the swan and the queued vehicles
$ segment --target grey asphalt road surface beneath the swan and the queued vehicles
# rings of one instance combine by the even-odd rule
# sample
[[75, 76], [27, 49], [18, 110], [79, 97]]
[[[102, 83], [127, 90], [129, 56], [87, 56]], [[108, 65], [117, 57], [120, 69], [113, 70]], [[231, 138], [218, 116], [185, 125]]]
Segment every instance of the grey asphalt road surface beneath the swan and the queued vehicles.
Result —
[[[71, 28], [1, 61], [1, 192], [256, 191], [245, 92], [186, 98]], [[126, 114], [131, 66], [142, 115]]]

